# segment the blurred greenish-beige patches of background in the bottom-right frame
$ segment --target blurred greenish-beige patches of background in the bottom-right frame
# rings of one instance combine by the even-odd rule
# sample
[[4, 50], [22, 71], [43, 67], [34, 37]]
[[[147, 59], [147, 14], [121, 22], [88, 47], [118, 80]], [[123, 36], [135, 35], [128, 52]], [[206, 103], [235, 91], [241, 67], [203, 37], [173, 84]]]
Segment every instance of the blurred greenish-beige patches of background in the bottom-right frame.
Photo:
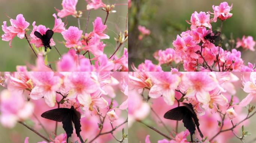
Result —
[[[240, 79], [239, 81], [234, 82], [233, 84], [234, 84], [234, 86], [236, 88], [236, 91], [237, 91], [235, 96], [237, 96], [240, 99], [240, 101], [241, 101], [242, 99], [244, 99], [248, 95], [248, 93], [244, 92], [243, 89], [242, 89], [243, 85], [242, 85], [241, 78], [243, 76], [245, 76], [245, 77], [247, 76], [247, 78], [248, 78], [250, 73], [249, 72], [248, 73], [245, 73], [245, 72], [234, 72], [234, 74]], [[145, 90], [145, 91], [146, 92], [144, 92], [145, 93], [144, 97], [146, 97], [147, 94], [148, 94], [147, 90]], [[160, 97], [160, 98], [162, 98], [162, 97]], [[154, 99], [150, 99], [149, 100], [149, 104], [152, 104], [152, 102], [154, 102]], [[250, 103], [250, 105], [254, 105], [255, 106], [256, 105], [256, 100], [253, 99], [253, 101]], [[159, 108], [159, 106], [158, 106], [158, 108]], [[168, 111], [168, 109], [165, 109], [165, 108], [163, 108], [162, 110], [167, 110]], [[155, 111], [157, 112], [156, 109], [155, 109]], [[255, 111], [255, 109], [254, 109], [254, 111]], [[241, 113], [246, 115], [248, 113], [248, 109], [247, 108], [243, 108]], [[241, 113], [238, 114], [238, 116], [241, 115]], [[250, 115], [251, 114], [252, 113], [250, 113]], [[152, 115], [154, 115], [154, 113], [152, 111], [150, 111], [149, 115], [146, 118], [144, 118], [144, 120], [142, 120], [142, 121], [144, 123], [146, 123], [147, 125], [151, 125], [151, 126], [155, 127], [156, 129], [158, 129], [159, 131], [161, 131], [162, 133], [168, 135], [168, 132], [165, 130], [165, 128], [163, 126], [159, 127], [159, 124], [161, 124], [160, 121], [159, 120], [155, 120], [155, 118], [153, 118]], [[159, 116], [161, 116], [161, 115], [159, 115]], [[245, 143], [256, 143], [256, 130], [255, 130], [256, 122], [255, 121], [256, 121], [256, 114], [253, 115], [249, 119], [249, 123], [247, 123], [247, 125], [244, 126], [244, 130], [245, 131], [249, 131], [250, 133], [252, 133], [252, 135], [245, 137], [245, 140], [243, 140]], [[157, 124], [157, 122], [158, 122], [158, 124]], [[170, 124], [171, 124], [171, 122], [172, 122], [172, 120], [170, 120]], [[241, 123], [241, 125], [243, 125], [244, 123], [245, 122]], [[199, 119], [199, 124], [200, 124], [200, 119]], [[168, 125], [168, 124], [165, 124], [165, 125], [167, 125], [167, 128], [170, 131], [175, 130], [175, 128], [170, 127], [170, 125]], [[217, 126], [217, 121], [216, 121], [216, 126]], [[199, 127], [200, 128], [204, 128], [204, 126], [202, 126], [202, 124]], [[185, 131], [185, 130], [186, 130], [186, 128], [183, 126], [182, 121], [179, 121], [179, 128], [178, 128], [179, 133], [181, 131]], [[238, 131], [239, 131], [237, 133], [238, 136], [241, 136], [241, 133], [242, 133], [241, 128], [238, 128]], [[196, 133], [198, 133], [197, 129], [196, 129]], [[156, 133], [156, 131], [150, 129], [149, 127], [146, 127], [146, 125], [143, 125], [143, 124], [141, 124], [141, 123], [139, 123], [137, 121], [135, 121], [131, 125], [131, 127], [129, 127], [128, 134], [129, 134], [129, 140], [128, 140], [129, 143], [145, 143], [145, 138], [146, 138], [147, 135], [150, 135], [149, 139], [150, 139], [151, 143], [157, 143], [158, 140], [165, 139], [163, 136], [161, 136], [160, 134]], [[216, 134], [216, 133], [213, 133], [213, 134]], [[193, 137], [194, 137], [193, 139], [195, 139], [195, 135], [193, 135]], [[206, 136], [204, 136], [204, 137], [206, 137]], [[190, 135], [187, 137], [187, 139], [188, 139], [188, 141], [190, 141]], [[201, 139], [201, 138], [199, 137], [199, 139]], [[254, 141], [252, 142], [252, 140], [254, 140]], [[224, 143], [224, 142], [218, 142], [218, 143]], [[241, 142], [241, 140], [237, 139], [234, 136], [231, 140], [228, 140], [228, 142], [225, 142], [225, 143], [242, 143], [242, 142]]]

